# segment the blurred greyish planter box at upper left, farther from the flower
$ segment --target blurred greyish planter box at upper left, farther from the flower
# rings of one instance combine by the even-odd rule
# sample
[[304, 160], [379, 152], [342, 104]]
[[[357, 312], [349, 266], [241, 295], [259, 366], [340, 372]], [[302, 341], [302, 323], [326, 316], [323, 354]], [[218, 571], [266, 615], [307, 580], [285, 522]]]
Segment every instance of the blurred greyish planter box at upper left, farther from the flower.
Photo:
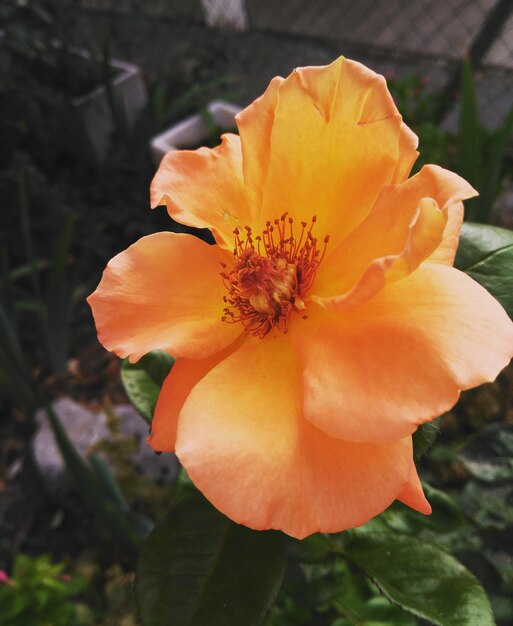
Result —
[[[86, 59], [91, 58], [88, 52], [79, 51], [79, 54]], [[137, 65], [119, 59], [111, 59], [110, 65], [114, 70], [110, 81], [112, 96], [130, 127], [146, 105], [146, 85]], [[89, 93], [73, 98], [71, 106], [80, 116], [94, 155], [102, 161], [107, 155], [112, 133], [116, 129], [116, 120], [105, 85], [99, 85]]]

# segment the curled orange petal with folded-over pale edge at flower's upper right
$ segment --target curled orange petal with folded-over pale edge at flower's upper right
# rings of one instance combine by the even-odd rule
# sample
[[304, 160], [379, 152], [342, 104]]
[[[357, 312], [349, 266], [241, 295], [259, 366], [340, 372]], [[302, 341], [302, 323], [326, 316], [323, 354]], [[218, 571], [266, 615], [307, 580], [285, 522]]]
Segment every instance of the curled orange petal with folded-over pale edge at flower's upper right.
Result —
[[[369, 216], [338, 246], [328, 247], [313, 293], [323, 297], [348, 294], [370, 276], [381, 281], [380, 288], [428, 257], [452, 264], [461, 227], [461, 201], [475, 195], [463, 178], [436, 165], [426, 165], [401, 185], [385, 187]], [[405, 271], [398, 275], [401, 268]], [[366, 289], [369, 295], [376, 291], [368, 285]]]

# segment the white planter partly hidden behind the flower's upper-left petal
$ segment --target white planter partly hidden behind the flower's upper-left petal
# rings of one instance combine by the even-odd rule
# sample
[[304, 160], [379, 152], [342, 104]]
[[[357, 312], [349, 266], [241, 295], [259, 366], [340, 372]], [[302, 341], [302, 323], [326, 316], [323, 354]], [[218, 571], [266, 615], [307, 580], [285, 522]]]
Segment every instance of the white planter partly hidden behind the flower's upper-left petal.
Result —
[[[236, 130], [235, 116], [242, 110], [241, 107], [216, 101], [210, 103], [207, 110], [221, 131]], [[153, 162], [158, 166], [167, 152], [197, 148], [208, 142], [208, 139], [209, 129], [205, 120], [199, 113], [191, 115], [151, 140], [150, 149]]]

